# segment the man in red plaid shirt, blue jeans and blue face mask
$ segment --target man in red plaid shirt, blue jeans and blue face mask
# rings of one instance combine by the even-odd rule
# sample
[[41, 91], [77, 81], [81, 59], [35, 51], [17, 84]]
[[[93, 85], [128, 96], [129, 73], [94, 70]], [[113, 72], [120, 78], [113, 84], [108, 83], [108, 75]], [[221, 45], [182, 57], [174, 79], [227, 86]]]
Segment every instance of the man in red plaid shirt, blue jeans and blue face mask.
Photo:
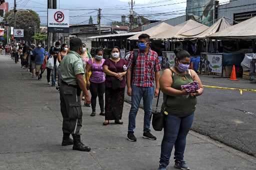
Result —
[[[150, 133], [150, 117], [153, 97], [157, 97], [159, 93], [159, 58], [157, 53], [149, 48], [149, 35], [147, 34], [138, 36], [138, 48], [136, 64], [132, 65], [132, 51], [127, 65], [127, 94], [131, 96], [127, 139], [136, 141], [133, 130], [135, 129], [135, 118], [142, 98], [144, 107], [143, 138], [156, 140]], [[131, 73], [131, 68], [133, 68], [133, 73]], [[133, 75], [132, 81], [130, 80], [131, 74]]]

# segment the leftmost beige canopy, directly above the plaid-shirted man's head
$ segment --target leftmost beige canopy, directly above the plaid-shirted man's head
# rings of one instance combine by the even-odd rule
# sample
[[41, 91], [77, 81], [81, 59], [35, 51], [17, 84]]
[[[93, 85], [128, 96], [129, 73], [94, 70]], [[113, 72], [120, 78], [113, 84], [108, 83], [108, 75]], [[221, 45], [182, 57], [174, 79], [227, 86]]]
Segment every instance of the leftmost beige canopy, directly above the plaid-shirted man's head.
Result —
[[146, 30], [144, 30], [144, 31], [141, 31], [141, 32], [139, 32], [139, 33], [137, 33], [137, 34], [135, 34], [135, 35], [133, 35], [133, 36], [127, 38], [127, 39], [137, 40], [137, 39], [138, 39], [138, 36], [139, 36], [140, 34], [142, 34], [142, 33], [148, 34], [148, 35], [150, 36], [150, 38], [151, 38], [151, 37], [153, 37], [155, 34], [158, 34], [159, 32], [162, 32], [162, 31], [165, 31], [165, 30], [170, 30], [170, 29], [172, 29], [172, 28], [173, 28], [173, 26], [171, 26], [171, 25], [169, 25], [169, 24], [167, 24], [167, 23], [165, 23], [165, 22], [162, 22], [162, 23], [160, 23], [160, 24], [158, 24], [158, 25], [155, 25], [155, 26], [153, 26], [153, 27], [151, 27], [151, 28], [149, 28], [149, 29], [146, 29]]

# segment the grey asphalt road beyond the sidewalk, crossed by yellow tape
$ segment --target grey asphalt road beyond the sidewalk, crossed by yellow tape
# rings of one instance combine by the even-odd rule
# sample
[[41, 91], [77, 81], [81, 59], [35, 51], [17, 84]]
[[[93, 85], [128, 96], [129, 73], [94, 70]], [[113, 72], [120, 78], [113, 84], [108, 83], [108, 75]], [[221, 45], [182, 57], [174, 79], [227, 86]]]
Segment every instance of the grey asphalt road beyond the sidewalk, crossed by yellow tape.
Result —
[[[199, 75], [203, 85], [238, 89], [256, 89], [255, 83], [238, 78], [212, 78], [211, 75]], [[125, 96], [130, 102], [130, 97]], [[162, 103], [160, 93], [159, 104]], [[229, 147], [256, 157], [256, 92], [204, 88], [197, 97], [192, 130], [217, 140]], [[155, 110], [156, 98], [152, 110]], [[158, 104], [158, 105], [159, 105]], [[143, 107], [142, 102], [140, 103]], [[157, 110], [159, 110], [158, 107]]]

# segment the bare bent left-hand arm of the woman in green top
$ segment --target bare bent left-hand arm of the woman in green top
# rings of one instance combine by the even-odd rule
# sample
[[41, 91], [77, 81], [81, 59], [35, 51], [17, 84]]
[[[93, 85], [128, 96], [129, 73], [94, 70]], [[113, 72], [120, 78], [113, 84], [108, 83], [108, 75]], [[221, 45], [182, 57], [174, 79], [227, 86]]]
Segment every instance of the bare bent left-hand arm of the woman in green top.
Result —
[[159, 78], [159, 86], [163, 94], [169, 96], [181, 96], [188, 95], [185, 90], [176, 90], [171, 87], [172, 85], [172, 72], [169, 69], [165, 69]]

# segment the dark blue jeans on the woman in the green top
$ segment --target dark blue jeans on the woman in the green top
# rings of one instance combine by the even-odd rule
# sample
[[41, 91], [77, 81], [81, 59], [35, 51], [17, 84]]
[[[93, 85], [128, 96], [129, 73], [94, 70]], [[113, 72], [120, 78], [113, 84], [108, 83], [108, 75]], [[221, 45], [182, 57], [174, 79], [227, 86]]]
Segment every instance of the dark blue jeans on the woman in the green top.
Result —
[[160, 164], [167, 167], [173, 145], [175, 149], [174, 159], [183, 160], [186, 146], [186, 135], [192, 126], [193, 118], [194, 114], [185, 117], [177, 117], [173, 115], [166, 116], [161, 144]]

